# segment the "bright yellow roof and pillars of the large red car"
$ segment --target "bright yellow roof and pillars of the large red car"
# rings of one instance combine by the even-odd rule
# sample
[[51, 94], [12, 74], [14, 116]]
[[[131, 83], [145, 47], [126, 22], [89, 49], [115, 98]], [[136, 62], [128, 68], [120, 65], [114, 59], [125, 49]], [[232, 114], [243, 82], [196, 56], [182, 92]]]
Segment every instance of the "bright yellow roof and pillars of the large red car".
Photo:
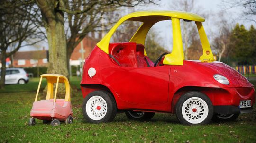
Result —
[[[183, 42], [180, 28], [180, 19], [187, 21], [195, 21], [200, 40], [203, 47], [203, 55], [201, 55], [200, 60], [202, 62], [212, 62], [214, 61], [213, 54], [210, 48], [209, 41], [205, 34], [202, 22], [204, 18], [190, 12], [183, 11], [138, 11], [130, 13], [122, 17], [116, 25], [114, 25], [110, 31], [97, 43], [97, 46], [103, 50], [105, 53], [109, 54], [109, 43], [110, 38], [116, 31], [116, 29], [126, 20], [131, 21], [141, 21], [143, 24], [138, 28], [137, 32], [133, 35], [129, 42], [136, 42], [137, 44], [145, 45], [146, 35], [149, 29], [157, 22], [162, 20], [172, 20], [173, 26], [173, 51], [165, 56], [163, 61], [167, 65], [183, 65], [184, 53], [183, 53]], [[144, 51], [146, 56], [146, 50]]]

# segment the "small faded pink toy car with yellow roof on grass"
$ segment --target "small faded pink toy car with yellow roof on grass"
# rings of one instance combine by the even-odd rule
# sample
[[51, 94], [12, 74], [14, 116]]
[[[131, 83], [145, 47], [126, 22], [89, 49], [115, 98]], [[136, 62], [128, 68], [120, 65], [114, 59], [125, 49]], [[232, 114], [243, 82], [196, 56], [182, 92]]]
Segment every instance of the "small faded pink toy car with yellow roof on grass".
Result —
[[[42, 78], [47, 80], [47, 95], [45, 100], [37, 101]], [[54, 84], [56, 83], [55, 94], [53, 92]], [[56, 99], [58, 84], [64, 83], [66, 87], [65, 99]], [[35, 118], [43, 120], [43, 123], [51, 121], [52, 126], [59, 126], [60, 121], [65, 121], [66, 124], [73, 122], [73, 112], [70, 101], [70, 86], [68, 79], [59, 74], [43, 74], [41, 75], [37, 88], [36, 99], [30, 111], [31, 118], [29, 125], [35, 125]]]

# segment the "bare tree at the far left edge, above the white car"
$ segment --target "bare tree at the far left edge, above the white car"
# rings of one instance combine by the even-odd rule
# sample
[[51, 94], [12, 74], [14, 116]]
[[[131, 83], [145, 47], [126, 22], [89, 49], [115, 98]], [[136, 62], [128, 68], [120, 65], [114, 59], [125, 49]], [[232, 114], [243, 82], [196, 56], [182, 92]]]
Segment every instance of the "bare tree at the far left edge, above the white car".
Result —
[[[0, 52], [1, 52], [1, 79], [0, 88], [4, 87], [6, 73], [6, 58], [13, 55], [20, 47], [32, 45], [41, 40], [39, 27], [34, 24], [33, 4], [23, 5], [18, 0], [0, 1]], [[33, 43], [25, 42], [28, 38]], [[39, 39], [38, 39], [39, 38]], [[35, 40], [36, 39], [36, 40]], [[10, 49], [10, 46], [12, 48]]]

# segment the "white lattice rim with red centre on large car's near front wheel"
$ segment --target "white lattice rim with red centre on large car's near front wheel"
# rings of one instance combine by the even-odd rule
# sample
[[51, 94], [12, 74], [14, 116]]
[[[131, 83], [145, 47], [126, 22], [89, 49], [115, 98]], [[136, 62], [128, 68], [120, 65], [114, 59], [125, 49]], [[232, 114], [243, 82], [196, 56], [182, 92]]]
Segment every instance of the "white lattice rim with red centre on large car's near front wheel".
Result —
[[204, 121], [208, 115], [208, 106], [198, 97], [187, 99], [182, 106], [182, 115], [186, 121], [198, 124]]

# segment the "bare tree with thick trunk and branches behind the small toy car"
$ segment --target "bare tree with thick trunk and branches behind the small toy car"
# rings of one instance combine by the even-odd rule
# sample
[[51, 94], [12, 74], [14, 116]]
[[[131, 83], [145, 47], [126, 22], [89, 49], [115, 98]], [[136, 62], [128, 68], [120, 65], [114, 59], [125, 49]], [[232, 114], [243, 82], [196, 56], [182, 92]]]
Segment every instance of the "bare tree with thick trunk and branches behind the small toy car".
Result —
[[[153, 0], [36, 0], [41, 10], [49, 45], [48, 73], [68, 76], [67, 56], [74, 47], [100, 23], [101, 16], [110, 8], [134, 7]], [[64, 13], [68, 14], [71, 35], [67, 40]], [[72, 16], [75, 15], [75, 16]], [[88, 23], [86, 23], [86, 21]], [[86, 26], [85, 26], [86, 25]], [[68, 41], [68, 42], [67, 42]], [[68, 46], [68, 47], [67, 47]], [[68, 49], [68, 51], [67, 51]]]

